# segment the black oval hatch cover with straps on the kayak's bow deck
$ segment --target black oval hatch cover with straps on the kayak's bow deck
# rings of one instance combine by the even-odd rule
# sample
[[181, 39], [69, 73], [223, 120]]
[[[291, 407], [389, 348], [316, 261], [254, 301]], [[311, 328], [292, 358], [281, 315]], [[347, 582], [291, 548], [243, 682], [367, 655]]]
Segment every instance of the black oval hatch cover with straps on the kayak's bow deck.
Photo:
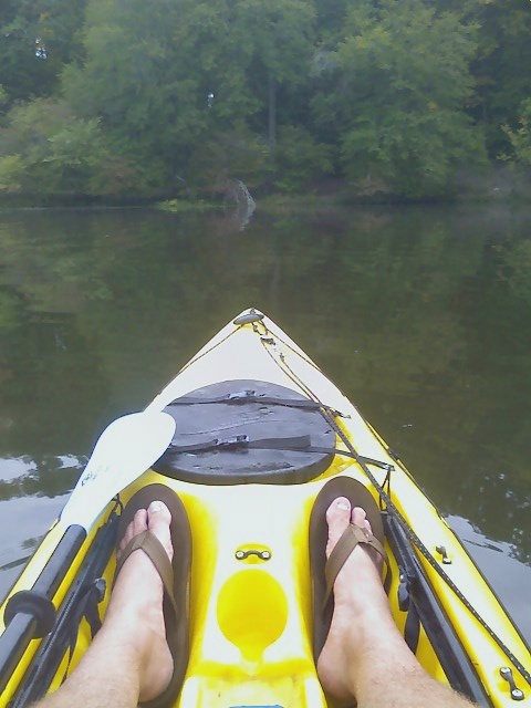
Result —
[[334, 456], [335, 433], [319, 405], [277, 384], [216, 383], [165, 410], [176, 434], [153, 468], [184, 481], [296, 485], [319, 477]]

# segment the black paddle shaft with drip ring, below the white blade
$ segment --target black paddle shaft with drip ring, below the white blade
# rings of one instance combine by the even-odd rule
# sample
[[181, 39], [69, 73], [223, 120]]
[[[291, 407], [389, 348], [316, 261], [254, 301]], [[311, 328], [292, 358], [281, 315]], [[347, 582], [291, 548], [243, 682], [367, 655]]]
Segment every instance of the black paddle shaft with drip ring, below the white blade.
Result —
[[33, 587], [15, 593], [6, 605], [6, 631], [0, 636], [0, 693], [30, 642], [43, 637], [53, 628], [55, 610], [51, 601], [85, 539], [86, 530], [83, 527], [69, 527]]

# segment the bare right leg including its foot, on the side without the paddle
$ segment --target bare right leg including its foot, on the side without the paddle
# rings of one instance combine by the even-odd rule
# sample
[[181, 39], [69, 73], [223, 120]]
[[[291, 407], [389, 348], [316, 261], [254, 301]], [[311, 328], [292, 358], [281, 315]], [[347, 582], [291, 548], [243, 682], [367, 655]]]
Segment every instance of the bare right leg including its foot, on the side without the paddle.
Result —
[[[351, 511], [340, 497], [326, 512], [330, 555], [352, 521], [366, 524], [365, 511]], [[317, 662], [325, 691], [360, 708], [470, 708], [472, 704], [431, 678], [395, 625], [381, 579], [382, 561], [357, 545], [334, 584], [334, 615]]]

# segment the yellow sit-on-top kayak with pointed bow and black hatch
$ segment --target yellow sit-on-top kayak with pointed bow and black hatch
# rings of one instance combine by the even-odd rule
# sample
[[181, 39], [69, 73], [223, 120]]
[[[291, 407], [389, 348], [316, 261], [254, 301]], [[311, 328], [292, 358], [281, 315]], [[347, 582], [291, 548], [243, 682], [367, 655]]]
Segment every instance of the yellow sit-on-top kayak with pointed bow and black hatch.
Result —
[[420, 664], [480, 705], [531, 707], [530, 648], [459, 539], [356, 408], [251, 309], [102, 434], [0, 610], [0, 708], [74, 669], [105, 615], [121, 510], [152, 483], [177, 492], [191, 530], [186, 656], [168, 705], [332, 707], [315, 669], [311, 519], [345, 478], [381, 509], [385, 589]]

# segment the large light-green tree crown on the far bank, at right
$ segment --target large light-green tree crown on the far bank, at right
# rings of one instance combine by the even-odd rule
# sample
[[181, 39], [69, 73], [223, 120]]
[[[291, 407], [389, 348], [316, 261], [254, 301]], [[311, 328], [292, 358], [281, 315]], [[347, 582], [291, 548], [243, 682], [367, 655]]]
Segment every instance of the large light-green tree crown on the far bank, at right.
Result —
[[473, 27], [420, 0], [365, 0], [351, 8], [344, 35], [316, 58], [313, 111], [340, 143], [351, 179], [426, 196], [444, 190], [456, 166], [482, 157], [482, 136], [465, 112]]

